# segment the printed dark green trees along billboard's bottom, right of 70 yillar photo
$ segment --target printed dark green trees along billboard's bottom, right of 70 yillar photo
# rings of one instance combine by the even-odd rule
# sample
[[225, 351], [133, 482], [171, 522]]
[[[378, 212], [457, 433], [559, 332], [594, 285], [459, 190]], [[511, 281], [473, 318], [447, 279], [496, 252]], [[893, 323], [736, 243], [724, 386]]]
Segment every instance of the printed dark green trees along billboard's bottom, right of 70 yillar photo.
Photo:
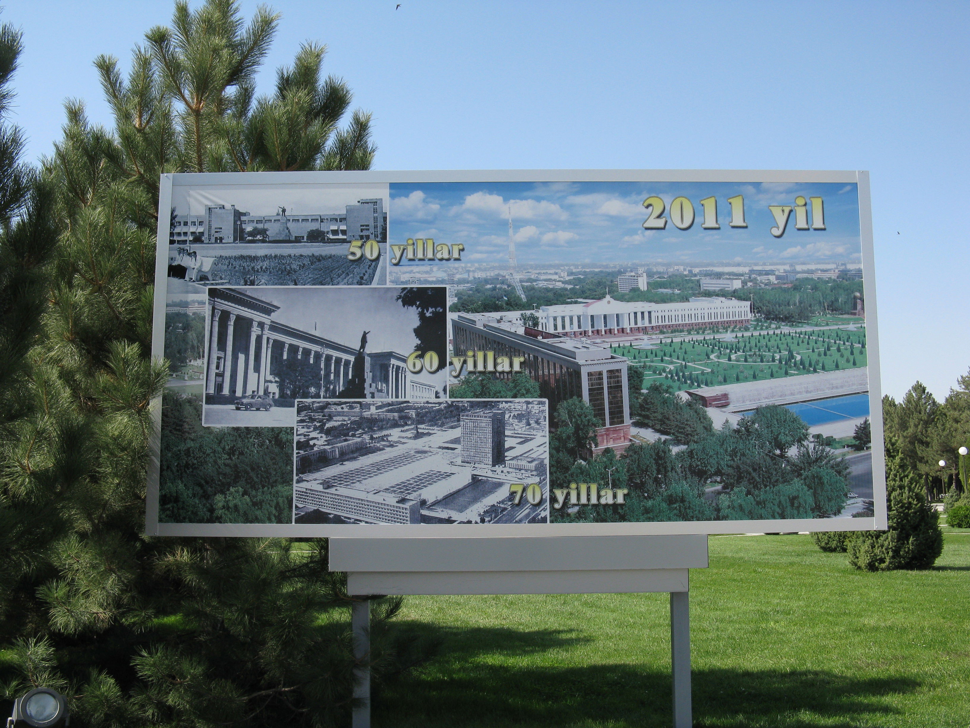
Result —
[[[598, 515], [589, 508], [575, 513], [553, 509], [554, 521], [811, 518], [841, 513], [848, 501], [847, 463], [830, 448], [807, 443], [804, 423], [784, 408], [761, 408], [736, 429], [726, 423], [714, 431], [702, 408], [652, 384], [640, 398], [641, 421], [676, 421], [677, 414], [670, 413], [679, 412], [697, 422], [695, 439], [676, 455], [664, 441], [633, 443], [622, 457], [610, 454], [610, 462], [603, 464], [599, 461], [612, 450], [587, 459], [584, 447], [572, 440], [575, 431], [565, 415], [573, 409], [586, 412], [588, 427], [597, 424], [589, 405], [581, 404], [566, 411], [561, 405], [557, 411], [559, 427], [550, 441], [553, 487], [567, 488], [570, 482], [601, 485], [609, 473], [614, 482], [625, 483], [630, 496], [626, 508], [598, 507]], [[584, 462], [576, 463], [577, 458]]]

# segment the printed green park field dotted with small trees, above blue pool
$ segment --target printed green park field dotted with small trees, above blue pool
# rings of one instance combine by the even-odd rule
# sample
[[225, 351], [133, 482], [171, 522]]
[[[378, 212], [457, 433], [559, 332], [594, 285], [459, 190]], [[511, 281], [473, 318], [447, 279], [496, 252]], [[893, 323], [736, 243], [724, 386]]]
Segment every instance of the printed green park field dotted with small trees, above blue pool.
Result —
[[864, 367], [865, 329], [736, 334], [693, 341], [662, 340], [656, 347], [612, 347], [644, 372], [644, 386], [661, 379], [675, 389], [795, 377]]

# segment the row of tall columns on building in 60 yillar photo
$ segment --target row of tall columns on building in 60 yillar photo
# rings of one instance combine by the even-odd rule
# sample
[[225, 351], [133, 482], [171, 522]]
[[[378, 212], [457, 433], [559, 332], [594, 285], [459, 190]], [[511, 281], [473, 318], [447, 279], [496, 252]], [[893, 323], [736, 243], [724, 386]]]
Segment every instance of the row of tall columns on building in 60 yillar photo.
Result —
[[[225, 314], [225, 315], [224, 315]], [[237, 326], [237, 319], [239, 326]], [[223, 355], [222, 381], [216, 391], [216, 360], [219, 355], [219, 339], [221, 324], [225, 322], [225, 349]], [[235, 346], [237, 328], [245, 322], [249, 323], [248, 346]], [[275, 383], [273, 350], [276, 343], [281, 358], [294, 356], [297, 359], [307, 359], [310, 364], [320, 366], [320, 394], [334, 396], [339, 393], [347, 381], [350, 380], [353, 358], [337, 353], [328, 353], [325, 347], [307, 347], [274, 337], [270, 334], [269, 321], [259, 321], [240, 316], [231, 311], [212, 307], [212, 318], [209, 333], [209, 358], [207, 360], [206, 392], [209, 394], [235, 394], [237, 397], [247, 393], [268, 394], [269, 385]], [[257, 343], [259, 354], [257, 355]], [[281, 350], [280, 350], [281, 349]], [[235, 378], [234, 375], [235, 374]], [[235, 380], [235, 381], [234, 381]], [[276, 392], [278, 394], [278, 392]]]

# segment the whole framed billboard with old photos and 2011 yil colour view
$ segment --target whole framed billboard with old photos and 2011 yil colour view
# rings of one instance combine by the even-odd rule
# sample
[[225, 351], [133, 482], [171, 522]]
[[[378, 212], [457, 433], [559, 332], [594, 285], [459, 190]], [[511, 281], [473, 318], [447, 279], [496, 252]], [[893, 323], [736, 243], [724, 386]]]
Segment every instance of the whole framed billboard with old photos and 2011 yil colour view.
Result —
[[163, 177], [147, 531], [885, 528], [862, 172]]

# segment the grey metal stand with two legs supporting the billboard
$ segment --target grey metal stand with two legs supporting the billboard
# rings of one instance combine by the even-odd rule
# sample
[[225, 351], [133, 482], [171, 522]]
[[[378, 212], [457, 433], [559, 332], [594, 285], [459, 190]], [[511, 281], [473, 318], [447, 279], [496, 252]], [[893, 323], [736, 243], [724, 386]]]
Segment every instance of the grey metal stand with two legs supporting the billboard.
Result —
[[[688, 570], [706, 567], [703, 535], [330, 540], [351, 596], [669, 592], [674, 728], [693, 722]], [[371, 728], [369, 621], [354, 603], [353, 728]]]

